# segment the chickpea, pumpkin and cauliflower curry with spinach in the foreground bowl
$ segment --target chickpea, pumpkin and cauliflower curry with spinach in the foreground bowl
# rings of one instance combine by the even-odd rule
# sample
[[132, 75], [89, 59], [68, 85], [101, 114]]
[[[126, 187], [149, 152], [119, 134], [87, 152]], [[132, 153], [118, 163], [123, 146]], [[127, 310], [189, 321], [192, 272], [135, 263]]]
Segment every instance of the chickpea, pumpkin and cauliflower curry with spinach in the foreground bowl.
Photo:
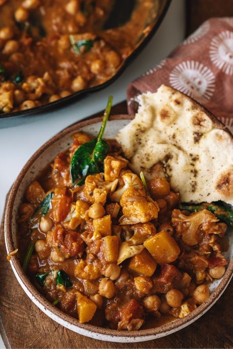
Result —
[[[183, 318], [221, 278], [232, 211], [182, 206], [162, 177], [134, 173], [116, 140], [76, 133], [20, 207], [22, 265], [67, 314], [118, 330]], [[193, 213], [191, 212], [193, 211]]]

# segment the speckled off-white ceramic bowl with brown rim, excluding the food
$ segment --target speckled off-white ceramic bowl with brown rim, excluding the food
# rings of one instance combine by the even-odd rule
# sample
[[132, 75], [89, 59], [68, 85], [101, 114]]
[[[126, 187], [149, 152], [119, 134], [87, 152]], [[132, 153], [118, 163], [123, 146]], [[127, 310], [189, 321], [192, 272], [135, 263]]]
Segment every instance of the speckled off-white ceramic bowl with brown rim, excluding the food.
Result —
[[[129, 115], [117, 115], [110, 118], [105, 131], [105, 137], [113, 138], [117, 132], [125, 126], [130, 119]], [[51, 138], [29, 159], [23, 167], [13, 187], [11, 188], [5, 213], [5, 243], [7, 253], [15, 250], [17, 242], [17, 215], [20, 204], [23, 201], [24, 191], [28, 185], [37, 177], [41, 169], [53, 161], [58, 152], [66, 150], [72, 142], [71, 135], [77, 131], [85, 131], [88, 134], [97, 135], [101, 125], [101, 118], [94, 118], [78, 122]], [[232, 234], [233, 235], [233, 234]], [[230, 236], [230, 234], [229, 234]], [[183, 319], [165, 325], [143, 329], [138, 331], [117, 331], [108, 328], [96, 327], [88, 323], [80, 324], [78, 320], [63, 313], [48, 302], [31, 284], [16, 256], [10, 260], [11, 267], [20, 285], [32, 300], [46, 315], [59, 324], [80, 333], [82, 335], [112, 342], [142, 342], [166, 336], [178, 331], [190, 323], [199, 319], [222, 295], [233, 275], [233, 236], [230, 249], [225, 253], [228, 260], [228, 269], [221, 280], [215, 280], [211, 284], [211, 295], [195, 311]]]

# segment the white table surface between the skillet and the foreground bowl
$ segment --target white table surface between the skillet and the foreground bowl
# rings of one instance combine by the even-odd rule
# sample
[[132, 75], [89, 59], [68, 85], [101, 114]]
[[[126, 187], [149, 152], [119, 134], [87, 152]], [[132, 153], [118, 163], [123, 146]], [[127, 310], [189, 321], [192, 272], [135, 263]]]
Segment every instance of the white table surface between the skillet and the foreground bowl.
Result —
[[[144, 51], [112, 85], [58, 111], [37, 115], [19, 126], [0, 129], [0, 217], [5, 196], [29, 157], [63, 128], [104, 109], [109, 95], [114, 96], [114, 104], [123, 101], [129, 82], [165, 58], [182, 41], [184, 32], [184, 0], [173, 0], [163, 23]], [[1, 338], [0, 348], [5, 348]]]

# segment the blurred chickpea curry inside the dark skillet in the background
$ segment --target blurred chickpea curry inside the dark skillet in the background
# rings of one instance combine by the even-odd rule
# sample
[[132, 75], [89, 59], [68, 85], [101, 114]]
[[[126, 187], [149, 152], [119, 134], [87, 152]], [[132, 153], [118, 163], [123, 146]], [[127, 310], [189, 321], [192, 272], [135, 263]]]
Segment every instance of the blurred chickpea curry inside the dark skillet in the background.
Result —
[[0, 112], [45, 105], [112, 78], [159, 8], [157, 0], [128, 3], [129, 20], [111, 27], [114, 0], [0, 0]]

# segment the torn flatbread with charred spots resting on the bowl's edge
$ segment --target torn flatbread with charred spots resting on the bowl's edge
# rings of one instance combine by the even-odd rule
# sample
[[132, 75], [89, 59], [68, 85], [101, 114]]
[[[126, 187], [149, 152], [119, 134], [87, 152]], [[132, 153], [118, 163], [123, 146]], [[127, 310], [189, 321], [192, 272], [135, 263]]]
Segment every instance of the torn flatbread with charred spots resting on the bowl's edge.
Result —
[[142, 94], [117, 140], [136, 173], [167, 178], [182, 202], [233, 205], [233, 135], [185, 94], [166, 85]]

